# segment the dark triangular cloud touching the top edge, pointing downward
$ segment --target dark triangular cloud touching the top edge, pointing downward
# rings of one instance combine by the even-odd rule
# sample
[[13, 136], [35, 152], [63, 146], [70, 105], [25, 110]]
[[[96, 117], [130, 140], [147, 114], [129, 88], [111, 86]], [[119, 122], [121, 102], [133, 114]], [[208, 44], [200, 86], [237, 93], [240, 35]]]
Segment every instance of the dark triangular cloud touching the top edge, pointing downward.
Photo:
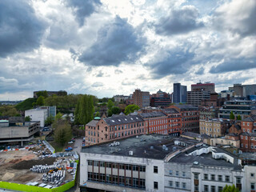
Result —
[[102, 3], [100, 0], [67, 0], [66, 5], [72, 8], [79, 26], [83, 26], [85, 18], [93, 14]]

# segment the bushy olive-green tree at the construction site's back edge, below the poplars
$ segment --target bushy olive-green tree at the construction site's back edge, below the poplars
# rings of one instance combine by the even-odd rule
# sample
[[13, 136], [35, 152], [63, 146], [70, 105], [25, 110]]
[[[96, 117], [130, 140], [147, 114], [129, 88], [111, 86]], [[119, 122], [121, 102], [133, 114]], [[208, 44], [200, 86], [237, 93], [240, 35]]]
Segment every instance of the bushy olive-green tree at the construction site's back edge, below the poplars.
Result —
[[54, 122], [57, 122], [54, 130], [54, 141], [64, 146], [64, 144], [72, 138], [71, 126], [68, 122], [63, 120], [55, 119]]

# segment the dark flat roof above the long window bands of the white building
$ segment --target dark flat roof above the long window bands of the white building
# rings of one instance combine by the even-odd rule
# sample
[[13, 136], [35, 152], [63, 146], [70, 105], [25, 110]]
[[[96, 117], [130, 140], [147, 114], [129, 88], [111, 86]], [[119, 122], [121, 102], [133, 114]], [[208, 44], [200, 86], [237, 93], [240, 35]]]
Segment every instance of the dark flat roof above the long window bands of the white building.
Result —
[[[177, 138], [169, 135], [150, 134], [139, 135], [138, 137], [123, 138], [117, 140], [120, 145], [110, 146], [112, 142], [106, 142], [94, 146], [82, 147], [81, 153], [89, 154], [109, 154], [130, 156], [134, 158], [153, 158], [164, 159], [167, 154], [171, 154], [176, 150], [184, 149], [185, 146], [175, 145], [175, 141], [184, 142], [186, 146], [191, 146], [198, 141], [187, 138]], [[163, 149], [163, 145], [166, 146]], [[133, 155], [129, 155], [129, 151], [133, 151]]]

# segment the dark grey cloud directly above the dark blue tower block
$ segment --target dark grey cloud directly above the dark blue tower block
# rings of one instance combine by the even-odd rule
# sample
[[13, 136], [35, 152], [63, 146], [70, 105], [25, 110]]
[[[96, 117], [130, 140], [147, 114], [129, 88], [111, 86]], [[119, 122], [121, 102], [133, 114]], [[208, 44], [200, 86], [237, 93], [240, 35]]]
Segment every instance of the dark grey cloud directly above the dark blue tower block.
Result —
[[171, 51], [164, 60], [154, 62], [149, 66], [154, 78], [163, 78], [170, 74], [185, 74], [187, 70], [190, 70], [190, 65], [194, 64], [193, 58], [194, 53], [178, 49]]

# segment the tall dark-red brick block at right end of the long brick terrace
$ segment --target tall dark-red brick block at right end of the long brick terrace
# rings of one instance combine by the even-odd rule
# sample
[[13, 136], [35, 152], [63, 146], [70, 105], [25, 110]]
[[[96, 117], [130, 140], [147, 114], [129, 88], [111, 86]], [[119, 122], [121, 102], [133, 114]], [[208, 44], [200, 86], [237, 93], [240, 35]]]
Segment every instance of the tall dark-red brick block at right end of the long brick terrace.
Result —
[[199, 110], [196, 106], [190, 105], [173, 105], [167, 109], [175, 109], [182, 116], [182, 132], [190, 131], [199, 133]]

